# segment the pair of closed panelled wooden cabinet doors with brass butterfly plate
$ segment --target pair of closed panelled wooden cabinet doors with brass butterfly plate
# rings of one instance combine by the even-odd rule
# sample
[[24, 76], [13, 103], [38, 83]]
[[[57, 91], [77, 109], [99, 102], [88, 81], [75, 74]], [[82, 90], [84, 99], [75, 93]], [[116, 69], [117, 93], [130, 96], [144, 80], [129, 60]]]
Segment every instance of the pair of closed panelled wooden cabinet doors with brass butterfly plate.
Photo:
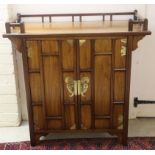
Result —
[[126, 38], [27, 40], [35, 131], [123, 129]]

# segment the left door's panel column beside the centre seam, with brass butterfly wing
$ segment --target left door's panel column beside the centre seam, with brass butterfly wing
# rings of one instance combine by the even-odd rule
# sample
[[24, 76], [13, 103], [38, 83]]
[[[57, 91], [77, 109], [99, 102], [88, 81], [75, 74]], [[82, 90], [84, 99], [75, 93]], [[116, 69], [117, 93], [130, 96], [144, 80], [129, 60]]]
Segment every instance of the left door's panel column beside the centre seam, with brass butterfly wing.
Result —
[[75, 41], [63, 40], [61, 54], [65, 129], [75, 130], [77, 128], [77, 96], [74, 95], [74, 81], [77, 74]]

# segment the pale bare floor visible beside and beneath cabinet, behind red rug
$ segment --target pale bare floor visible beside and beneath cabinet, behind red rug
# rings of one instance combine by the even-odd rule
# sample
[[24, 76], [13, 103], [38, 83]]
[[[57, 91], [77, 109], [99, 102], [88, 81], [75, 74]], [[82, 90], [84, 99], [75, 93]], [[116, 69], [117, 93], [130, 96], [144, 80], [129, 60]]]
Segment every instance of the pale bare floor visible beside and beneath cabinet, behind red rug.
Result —
[[[108, 134], [94, 133], [94, 134], [57, 134], [51, 135], [50, 138], [72, 138], [72, 137], [106, 137]], [[129, 121], [129, 137], [155, 137], [155, 118], [139, 118]], [[20, 127], [0, 127], [0, 143], [3, 142], [19, 142], [28, 141], [29, 127], [28, 122], [22, 122]]]

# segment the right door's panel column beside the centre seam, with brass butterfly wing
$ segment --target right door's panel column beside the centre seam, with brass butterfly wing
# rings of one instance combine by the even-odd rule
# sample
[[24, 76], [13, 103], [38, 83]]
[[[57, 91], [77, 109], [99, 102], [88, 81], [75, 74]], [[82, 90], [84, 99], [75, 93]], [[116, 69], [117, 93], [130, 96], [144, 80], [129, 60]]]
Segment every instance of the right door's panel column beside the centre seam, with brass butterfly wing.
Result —
[[[90, 129], [92, 126], [92, 98], [91, 98], [91, 41], [79, 40], [79, 66], [77, 66], [78, 80], [80, 80], [80, 95], [78, 97], [80, 128]], [[79, 85], [79, 84], [78, 84]], [[79, 89], [78, 89], [79, 90]]]

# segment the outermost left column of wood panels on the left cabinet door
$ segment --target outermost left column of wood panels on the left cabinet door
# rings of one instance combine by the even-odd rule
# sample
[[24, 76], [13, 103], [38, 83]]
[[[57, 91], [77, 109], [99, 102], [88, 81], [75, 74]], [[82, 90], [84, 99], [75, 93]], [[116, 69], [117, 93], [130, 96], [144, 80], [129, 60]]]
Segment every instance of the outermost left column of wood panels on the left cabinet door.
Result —
[[33, 113], [34, 130], [43, 130], [45, 127], [42, 108], [41, 77], [40, 77], [40, 47], [38, 41], [27, 41], [28, 75], [30, 84], [31, 106]]

